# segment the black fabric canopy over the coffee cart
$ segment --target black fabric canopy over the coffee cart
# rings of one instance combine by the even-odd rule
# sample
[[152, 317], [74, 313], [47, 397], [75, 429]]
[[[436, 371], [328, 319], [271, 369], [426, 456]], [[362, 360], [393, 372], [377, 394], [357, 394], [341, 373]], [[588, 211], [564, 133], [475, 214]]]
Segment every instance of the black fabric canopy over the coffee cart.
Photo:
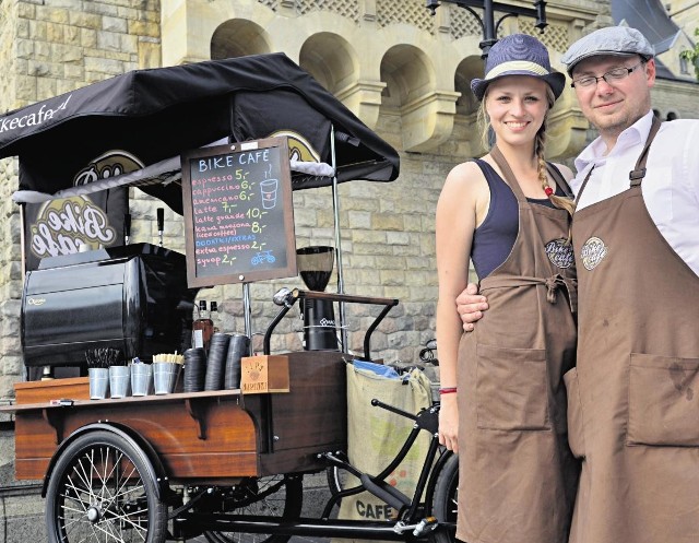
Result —
[[[297, 160], [331, 164], [331, 126], [339, 182], [398, 177], [395, 150], [284, 54], [135, 70], [11, 111], [0, 117], [0, 157], [20, 157], [21, 190], [55, 194], [94, 181], [85, 168], [107, 153], [133, 156], [146, 172], [131, 175], [138, 184], [152, 166], [222, 138], [287, 134]], [[158, 172], [143, 190], [181, 213], [179, 182], [159, 182], [178, 177]], [[332, 182], [328, 172], [306, 172], [294, 174], [294, 189]]]

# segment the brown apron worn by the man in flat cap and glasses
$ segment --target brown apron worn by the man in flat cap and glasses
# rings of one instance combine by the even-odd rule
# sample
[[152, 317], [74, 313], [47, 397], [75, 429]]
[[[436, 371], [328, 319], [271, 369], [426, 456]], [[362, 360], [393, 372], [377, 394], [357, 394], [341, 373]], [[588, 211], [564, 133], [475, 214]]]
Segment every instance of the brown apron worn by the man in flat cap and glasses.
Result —
[[699, 278], [641, 194], [659, 127], [630, 188], [573, 219], [580, 335], [566, 385], [583, 462], [571, 543], [699, 541]]

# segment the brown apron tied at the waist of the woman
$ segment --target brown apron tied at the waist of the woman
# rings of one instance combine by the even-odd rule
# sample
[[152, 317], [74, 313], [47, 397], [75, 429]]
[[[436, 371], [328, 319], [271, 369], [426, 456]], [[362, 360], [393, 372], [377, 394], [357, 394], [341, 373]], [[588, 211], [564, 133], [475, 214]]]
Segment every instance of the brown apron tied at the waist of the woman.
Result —
[[517, 197], [519, 234], [481, 281], [487, 318], [459, 346], [457, 538], [565, 543], [579, 473], [562, 381], [576, 351], [570, 219], [529, 203], [497, 147], [491, 156]]

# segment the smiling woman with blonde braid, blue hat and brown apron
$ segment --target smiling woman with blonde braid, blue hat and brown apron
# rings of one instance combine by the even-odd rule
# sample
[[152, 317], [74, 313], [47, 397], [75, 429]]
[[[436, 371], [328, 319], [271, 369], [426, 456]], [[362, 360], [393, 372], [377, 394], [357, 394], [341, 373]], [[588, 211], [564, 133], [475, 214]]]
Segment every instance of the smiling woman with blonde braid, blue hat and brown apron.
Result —
[[[459, 452], [457, 536], [469, 543], [564, 543], [570, 526], [578, 465], [562, 375], [574, 365], [573, 204], [564, 176], [572, 174], [544, 161], [546, 117], [564, 84], [537, 39], [497, 42], [485, 78], [471, 83], [495, 145], [451, 170], [437, 204], [439, 437]], [[470, 259], [489, 309], [462, 335], [454, 300]]]

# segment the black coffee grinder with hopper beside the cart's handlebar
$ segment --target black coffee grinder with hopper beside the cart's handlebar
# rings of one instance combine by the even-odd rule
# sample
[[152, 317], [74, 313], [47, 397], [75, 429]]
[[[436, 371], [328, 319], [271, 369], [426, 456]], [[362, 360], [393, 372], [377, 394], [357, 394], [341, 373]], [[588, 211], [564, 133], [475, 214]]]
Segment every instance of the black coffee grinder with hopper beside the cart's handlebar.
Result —
[[[296, 250], [298, 272], [311, 291], [323, 292], [334, 264], [335, 249], [328, 246], [304, 247]], [[337, 351], [335, 314], [329, 299], [304, 298], [304, 349], [306, 351]]]

